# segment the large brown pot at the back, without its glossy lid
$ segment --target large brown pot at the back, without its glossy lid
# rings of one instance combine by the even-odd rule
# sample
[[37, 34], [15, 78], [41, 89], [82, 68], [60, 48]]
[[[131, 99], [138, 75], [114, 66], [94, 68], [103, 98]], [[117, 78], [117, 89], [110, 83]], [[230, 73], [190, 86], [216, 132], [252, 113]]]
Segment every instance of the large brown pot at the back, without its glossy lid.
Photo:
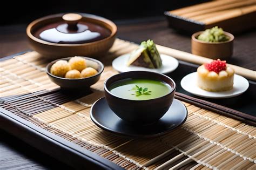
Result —
[[104, 55], [113, 45], [117, 33], [117, 26], [109, 19], [87, 13], [79, 13], [82, 16], [82, 18], [79, 18], [79, 21], [97, 24], [110, 30], [109, 37], [90, 43], [61, 44], [48, 42], [35, 36], [35, 31], [39, 28], [47, 24], [63, 21], [63, 15], [64, 13], [59, 13], [36, 19], [26, 28], [30, 46], [33, 50], [41, 53], [43, 57], [51, 60], [69, 56], [90, 56], [96, 58]]

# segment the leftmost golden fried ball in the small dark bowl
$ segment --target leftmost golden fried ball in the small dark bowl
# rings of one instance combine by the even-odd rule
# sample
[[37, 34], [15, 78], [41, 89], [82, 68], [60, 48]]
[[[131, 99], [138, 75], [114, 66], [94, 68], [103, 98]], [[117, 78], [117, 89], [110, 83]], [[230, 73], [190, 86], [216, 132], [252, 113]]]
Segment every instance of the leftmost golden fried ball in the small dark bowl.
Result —
[[64, 77], [66, 72], [71, 70], [71, 66], [66, 60], [58, 60], [55, 64], [51, 66], [51, 74], [58, 76], [58, 77]]

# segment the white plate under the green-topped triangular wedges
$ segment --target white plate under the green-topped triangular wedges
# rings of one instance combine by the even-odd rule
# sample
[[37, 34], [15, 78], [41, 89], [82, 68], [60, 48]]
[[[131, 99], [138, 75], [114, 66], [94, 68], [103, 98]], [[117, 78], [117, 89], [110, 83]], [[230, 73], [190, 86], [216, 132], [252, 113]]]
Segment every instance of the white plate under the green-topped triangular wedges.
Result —
[[126, 63], [129, 59], [130, 53], [125, 55], [119, 56], [112, 62], [112, 67], [119, 72], [126, 72], [126, 71], [151, 71], [151, 72], [158, 72], [167, 74], [175, 69], [177, 69], [179, 62], [176, 58], [167, 55], [160, 55], [163, 65], [159, 69], [148, 69], [145, 67], [138, 67], [138, 66], [127, 66]]

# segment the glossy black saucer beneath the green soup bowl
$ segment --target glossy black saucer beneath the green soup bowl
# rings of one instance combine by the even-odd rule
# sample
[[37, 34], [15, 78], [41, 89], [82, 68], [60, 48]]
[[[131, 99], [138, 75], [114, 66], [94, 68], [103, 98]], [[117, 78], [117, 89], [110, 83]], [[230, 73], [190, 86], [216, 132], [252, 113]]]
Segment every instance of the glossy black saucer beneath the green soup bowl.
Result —
[[185, 123], [187, 119], [187, 108], [177, 99], [156, 123], [151, 125], [131, 124], [120, 119], [107, 105], [106, 99], [97, 100], [91, 107], [92, 121], [103, 130], [130, 137], [156, 137], [167, 133]]

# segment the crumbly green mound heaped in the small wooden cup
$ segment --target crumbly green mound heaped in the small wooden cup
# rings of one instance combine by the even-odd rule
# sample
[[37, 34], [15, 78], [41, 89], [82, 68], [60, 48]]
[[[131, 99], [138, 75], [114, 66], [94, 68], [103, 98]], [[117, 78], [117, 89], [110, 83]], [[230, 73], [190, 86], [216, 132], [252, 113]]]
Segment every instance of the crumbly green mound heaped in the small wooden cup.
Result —
[[230, 37], [226, 36], [224, 34], [224, 31], [222, 28], [218, 28], [218, 26], [215, 26], [211, 29], [205, 30], [203, 33], [201, 33], [197, 39], [203, 40], [204, 42], [209, 43], [218, 43], [218, 42], [226, 42]]

